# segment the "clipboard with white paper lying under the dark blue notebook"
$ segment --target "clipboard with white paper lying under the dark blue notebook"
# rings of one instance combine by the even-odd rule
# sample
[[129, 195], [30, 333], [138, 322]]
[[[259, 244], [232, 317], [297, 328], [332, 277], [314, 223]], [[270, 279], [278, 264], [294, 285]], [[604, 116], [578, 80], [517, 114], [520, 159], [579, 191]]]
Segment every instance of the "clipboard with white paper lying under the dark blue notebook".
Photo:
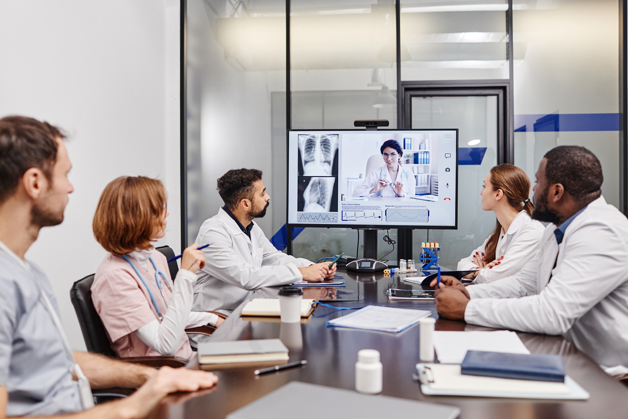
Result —
[[565, 383], [460, 374], [458, 364], [416, 364], [424, 395], [587, 400], [590, 395], [570, 376]]

